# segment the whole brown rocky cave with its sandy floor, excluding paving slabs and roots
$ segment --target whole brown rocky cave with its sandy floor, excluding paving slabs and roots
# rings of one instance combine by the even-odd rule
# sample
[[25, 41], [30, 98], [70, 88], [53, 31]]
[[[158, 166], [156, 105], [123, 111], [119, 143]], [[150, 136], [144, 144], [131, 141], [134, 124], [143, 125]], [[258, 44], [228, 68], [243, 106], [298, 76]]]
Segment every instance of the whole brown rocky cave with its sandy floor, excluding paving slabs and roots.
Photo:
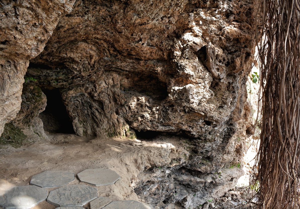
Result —
[[107, 198], [159, 209], [207, 205], [235, 187], [243, 168], [230, 167], [253, 125], [244, 79], [259, 2], [5, 2], [1, 179], [111, 168], [122, 182]]

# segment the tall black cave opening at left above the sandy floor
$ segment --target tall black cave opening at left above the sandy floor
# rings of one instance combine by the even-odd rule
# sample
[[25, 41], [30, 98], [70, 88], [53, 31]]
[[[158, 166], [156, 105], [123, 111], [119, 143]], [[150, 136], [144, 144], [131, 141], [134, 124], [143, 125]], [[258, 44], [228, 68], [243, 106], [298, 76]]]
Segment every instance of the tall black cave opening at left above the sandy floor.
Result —
[[46, 109], [39, 115], [44, 123], [44, 130], [49, 133], [75, 134], [59, 90], [43, 89], [42, 91], [47, 97]]

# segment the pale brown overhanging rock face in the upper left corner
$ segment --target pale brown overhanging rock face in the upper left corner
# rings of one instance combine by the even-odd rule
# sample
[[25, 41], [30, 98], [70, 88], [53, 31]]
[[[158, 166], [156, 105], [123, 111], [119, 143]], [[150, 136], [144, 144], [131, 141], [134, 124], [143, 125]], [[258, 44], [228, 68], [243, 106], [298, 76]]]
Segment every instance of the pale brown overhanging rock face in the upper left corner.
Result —
[[60, 16], [75, 0], [0, 2], [0, 134], [20, 110], [29, 59], [44, 49]]

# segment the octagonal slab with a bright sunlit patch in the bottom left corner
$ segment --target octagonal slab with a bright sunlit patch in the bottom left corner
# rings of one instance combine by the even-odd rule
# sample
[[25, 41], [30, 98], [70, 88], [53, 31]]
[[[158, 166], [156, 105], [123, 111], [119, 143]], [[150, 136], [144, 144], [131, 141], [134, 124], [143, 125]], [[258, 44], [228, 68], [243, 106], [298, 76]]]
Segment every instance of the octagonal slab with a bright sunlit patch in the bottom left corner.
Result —
[[0, 206], [5, 209], [28, 209], [38, 205], [48, 196], [48, 191], [37, 186], [12, 187], [0, 196]]

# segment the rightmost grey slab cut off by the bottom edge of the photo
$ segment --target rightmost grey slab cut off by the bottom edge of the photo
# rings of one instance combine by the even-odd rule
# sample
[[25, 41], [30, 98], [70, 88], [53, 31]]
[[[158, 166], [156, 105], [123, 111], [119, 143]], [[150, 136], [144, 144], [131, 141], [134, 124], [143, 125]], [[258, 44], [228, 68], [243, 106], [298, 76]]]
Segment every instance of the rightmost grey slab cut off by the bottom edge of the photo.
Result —
[[135, 200], [124, 200], [124, 201], [113, 201], [103, 209], [151, 209], [149, 205], [146, 205], [141, 202], [137, 202]]

